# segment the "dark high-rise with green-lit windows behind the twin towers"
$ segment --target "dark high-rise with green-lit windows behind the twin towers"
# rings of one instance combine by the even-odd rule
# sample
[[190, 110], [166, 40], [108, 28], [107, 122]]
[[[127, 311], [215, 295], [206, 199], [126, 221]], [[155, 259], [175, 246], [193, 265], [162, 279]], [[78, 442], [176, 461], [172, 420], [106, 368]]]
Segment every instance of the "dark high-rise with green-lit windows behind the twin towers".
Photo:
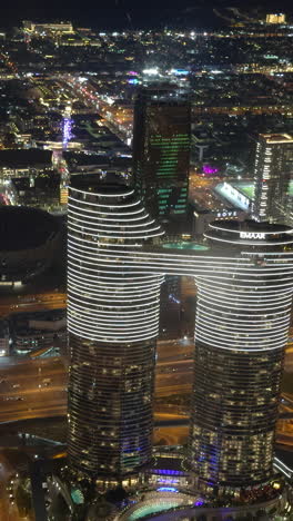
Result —
[[169, 235], [188, 230], [191, 107], [170, 87], [144, 88], [134, 107], [133, 170], [142, 200]]

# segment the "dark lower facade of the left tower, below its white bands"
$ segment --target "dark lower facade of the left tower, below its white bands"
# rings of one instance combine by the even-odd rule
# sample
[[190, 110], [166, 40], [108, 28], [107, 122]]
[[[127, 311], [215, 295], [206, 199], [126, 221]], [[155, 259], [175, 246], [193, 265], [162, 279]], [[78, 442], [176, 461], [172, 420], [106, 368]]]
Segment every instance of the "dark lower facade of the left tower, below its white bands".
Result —
[[151, 459], [155, 341], [118, 345], [70, 334], [69, 455], [118, 480]]

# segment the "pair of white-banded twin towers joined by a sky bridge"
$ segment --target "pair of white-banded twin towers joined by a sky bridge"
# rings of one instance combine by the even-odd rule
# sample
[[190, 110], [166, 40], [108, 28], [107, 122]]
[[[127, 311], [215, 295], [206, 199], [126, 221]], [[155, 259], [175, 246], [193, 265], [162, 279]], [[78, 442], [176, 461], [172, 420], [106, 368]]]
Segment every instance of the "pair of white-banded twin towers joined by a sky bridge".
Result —
[[215, 222], [206, 250], [166, 250], [135, 193], [94, 176], [72, 178], [68, 228], [71, 466], [113, 484], [150, 463], [160, 287], [186, 275], [198, 286], [188, 465], [206, 488], [267, 482], [293, 230]]

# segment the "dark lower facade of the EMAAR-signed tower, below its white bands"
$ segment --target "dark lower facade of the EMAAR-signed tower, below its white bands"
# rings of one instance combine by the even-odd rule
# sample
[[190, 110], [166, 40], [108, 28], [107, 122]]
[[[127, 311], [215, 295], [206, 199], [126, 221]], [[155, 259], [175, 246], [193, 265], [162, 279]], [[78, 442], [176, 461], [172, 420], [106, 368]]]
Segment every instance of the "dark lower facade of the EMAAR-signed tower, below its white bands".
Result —
[[189, 462], [210, 486], [272, 478], [283, 352], [239, 353], [196, 343]]

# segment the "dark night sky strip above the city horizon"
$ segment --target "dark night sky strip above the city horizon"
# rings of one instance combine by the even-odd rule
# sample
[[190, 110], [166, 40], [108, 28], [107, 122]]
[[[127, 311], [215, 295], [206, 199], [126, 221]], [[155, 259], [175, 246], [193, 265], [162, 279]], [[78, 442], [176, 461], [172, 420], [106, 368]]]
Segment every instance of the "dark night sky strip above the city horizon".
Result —
[[[9, 7], [11, 6], [11, 7]], [[60, 7], [62, 6], [62, 7]], [[165, 26], [220, 27], [223, 20], [213, 14], [213, 7], [284, 10], [292, 16], [291, 0], [72, 0], [71, 2], [17, 0], [1, 7], [0, 27], [17, 26], [23, 19], [36, 21], [72, 20], [74, 24], [101, 29], [137, 29]]]

